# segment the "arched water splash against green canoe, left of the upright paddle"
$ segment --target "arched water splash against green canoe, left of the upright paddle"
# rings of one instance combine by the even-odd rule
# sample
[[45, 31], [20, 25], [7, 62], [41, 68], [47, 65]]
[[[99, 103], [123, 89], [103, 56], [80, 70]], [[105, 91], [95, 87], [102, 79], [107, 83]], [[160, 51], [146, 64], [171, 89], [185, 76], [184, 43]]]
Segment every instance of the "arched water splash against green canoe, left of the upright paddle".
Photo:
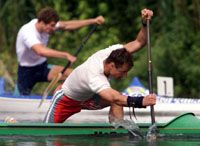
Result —
[[138, 125], [134, 121], [130, 120], [120, 120], [111, 123], [115, 128], [122, 126], [127, 129], [132, 136], [142, 139], [143, 135], [140, 132]]

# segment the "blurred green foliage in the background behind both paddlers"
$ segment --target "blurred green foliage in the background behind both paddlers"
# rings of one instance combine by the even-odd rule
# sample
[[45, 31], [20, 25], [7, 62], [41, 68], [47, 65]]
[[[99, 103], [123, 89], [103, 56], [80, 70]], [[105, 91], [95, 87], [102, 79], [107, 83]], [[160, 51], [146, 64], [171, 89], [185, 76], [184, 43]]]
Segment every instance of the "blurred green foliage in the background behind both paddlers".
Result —
[[[97, 50], [135, 39], [140, 27], [140, 11], [154, 11], [151, 21], [153, 81], [157, 76], [174, 78], [176, 97], [200, 97], [200, 1], [199, 0], [0, 0], [0, 60], [16, 81], [17, 59], [15, 40], [19, 28], [35, 18], [45, 7], [53, 7], [62, 20], [87, 19], [103, 15], [106, 23], [99, 26], [78, 56], [76, 67]], [[74, 53], [89, 27], [72, 32], [57, 32], [49, 47]], [[147, 87], [146, 47], [134, 54], [134, 68], [127, 79], [112, 81], [123, 90], [134, 76]], [[52, 64], [65, 65], [61, 59], [49, 59]], [[38, 84], [35, 93], [43, 93], [48, 84]]]

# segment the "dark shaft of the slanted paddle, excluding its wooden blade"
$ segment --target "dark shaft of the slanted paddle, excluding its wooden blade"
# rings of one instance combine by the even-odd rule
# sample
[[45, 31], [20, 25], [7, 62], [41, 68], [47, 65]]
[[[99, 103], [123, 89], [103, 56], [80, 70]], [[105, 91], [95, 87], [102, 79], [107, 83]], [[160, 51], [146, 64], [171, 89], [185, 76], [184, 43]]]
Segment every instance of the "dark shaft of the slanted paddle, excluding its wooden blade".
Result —
[[[77, 56], [79, 54], [79, 52], [81, 51], [81, 49], [83, 48], [83, 46], [85, 45], [85, 43], [87, 42], [87, 40], [89, 39], [89, 37], [92, 35], [92, 33], [96, 30], [96, 25], [93, 25], [90, 32], [86, 35], [86, 37], [83, 39], [80, 47], [77, 49], [76, 53], [74, 54], [74, 56]], [[67, 68], [69, 68], [71, 65], [71, 62], [68, 61], [68, 63], [66, 64], [66, 66], [63, 68], [63, 70], [61, 71], [61, 74], [64, 74], [64, 72], [66, 71]]]

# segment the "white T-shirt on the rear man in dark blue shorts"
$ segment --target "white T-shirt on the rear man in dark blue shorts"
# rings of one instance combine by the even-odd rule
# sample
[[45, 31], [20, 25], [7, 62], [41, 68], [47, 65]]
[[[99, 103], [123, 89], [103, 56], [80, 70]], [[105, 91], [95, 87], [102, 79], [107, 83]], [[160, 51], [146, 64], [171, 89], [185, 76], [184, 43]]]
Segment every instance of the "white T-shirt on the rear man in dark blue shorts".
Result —
[[46, 61], [46, 57], [37, 55], [31, 47], [35, 44], [47, 46], [49, 34], [39, 33], [35, 27], [37, 19], [23, 25], [17, 34], [16, 53], [21, 66], [35, 66]]

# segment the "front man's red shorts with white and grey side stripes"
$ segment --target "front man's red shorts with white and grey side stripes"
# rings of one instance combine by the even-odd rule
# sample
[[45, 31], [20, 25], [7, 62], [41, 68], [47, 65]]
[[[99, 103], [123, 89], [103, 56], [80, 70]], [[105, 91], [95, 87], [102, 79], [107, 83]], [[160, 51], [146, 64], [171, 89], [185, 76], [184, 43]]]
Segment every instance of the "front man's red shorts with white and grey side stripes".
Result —
[[104, 106], [99, 105], [100, 97], [97, 95], [85, 102], [80, 102], [65, 96], [60, 87], [54, 92], [51, 106], [44, 120], [46, 123], [63, 123], [73, 114], [80, 112], [81, 109], [97, 110], [104, 108]]

